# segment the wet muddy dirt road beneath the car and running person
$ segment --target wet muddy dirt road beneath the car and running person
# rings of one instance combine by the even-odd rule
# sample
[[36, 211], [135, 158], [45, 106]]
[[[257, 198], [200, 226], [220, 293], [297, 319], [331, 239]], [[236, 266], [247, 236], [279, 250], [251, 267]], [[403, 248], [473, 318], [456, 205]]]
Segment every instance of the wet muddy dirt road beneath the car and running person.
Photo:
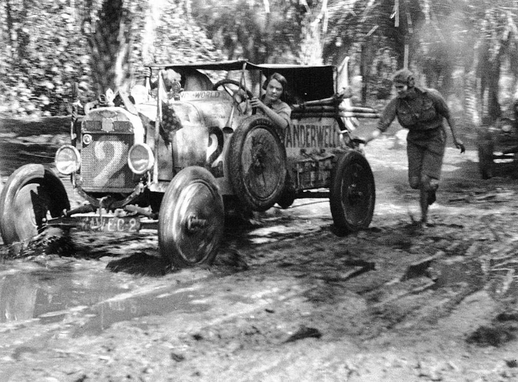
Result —
[[[7, 127], [3, 181], [66, 140]], [[0, 380], [518, 380], [515, 169], [482, 181], [474, 146], [450, 146], [418, 229], [404, 139], [365, 151], [375, 214], [347, 237], [306, 199], [227, 227], [206, 268], [168, 269], [151, 231], [0, 247]]]

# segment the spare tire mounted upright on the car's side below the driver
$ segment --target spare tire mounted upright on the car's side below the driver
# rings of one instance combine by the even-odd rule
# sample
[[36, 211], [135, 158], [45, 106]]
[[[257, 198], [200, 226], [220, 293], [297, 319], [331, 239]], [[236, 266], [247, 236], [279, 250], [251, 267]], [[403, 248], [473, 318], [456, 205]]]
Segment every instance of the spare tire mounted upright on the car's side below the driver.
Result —
[[232, 189], [244, 207], [272, 207], [286, 178], [286, 151], [274, 124], [261, 115], [248, 117], [232, 136], [227, 158]]

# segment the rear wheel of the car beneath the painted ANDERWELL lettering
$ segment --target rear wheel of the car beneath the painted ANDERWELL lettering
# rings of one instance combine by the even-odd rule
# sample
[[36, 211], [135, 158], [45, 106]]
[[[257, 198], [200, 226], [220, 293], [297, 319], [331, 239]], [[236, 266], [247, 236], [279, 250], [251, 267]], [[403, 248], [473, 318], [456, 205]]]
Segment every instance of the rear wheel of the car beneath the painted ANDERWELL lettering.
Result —
[[337, 233], [354, 232], [369, 226], [376, 189], [369, 163], [362, 154], [349, 151], [338, 160], [329, 192]]

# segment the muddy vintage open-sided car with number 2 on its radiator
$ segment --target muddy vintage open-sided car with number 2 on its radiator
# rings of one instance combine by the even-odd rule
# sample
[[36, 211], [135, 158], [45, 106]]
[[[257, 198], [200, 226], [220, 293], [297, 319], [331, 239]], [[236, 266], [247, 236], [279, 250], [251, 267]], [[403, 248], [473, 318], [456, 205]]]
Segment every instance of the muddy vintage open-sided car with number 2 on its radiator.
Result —
[[[168, 77], [171, 70], [179, 80]], [[149, 71], [129, 94], [108, 91], [83, 115], [72, 113], [71, 142], [57, 150], [55, 170], [70, 178], [82, 205], [70, 208], [52, 168], [28, 164], [10, 175], [0, 196], [6, 244], [52, 227], [154, 228], [160, 254], [186, 267], [214, 259], [230, 205], [265, 211], [296, 198], [329, 198], [337, 233], [369, 226], [375, 184], [350, 126], [352, 118], [377, 114], [351, 106], [350, 94], [337, 89], [336, 67], [232, 61]], [[211, 71], [234, 79], [209, 81], [208, 89], [207, 78], [195, 81]], [[297, 102], [285, 131], [249, 107], [247, 83], [261, 92], [257, 84], [273, 72], [286, 77], [286, 94]]]

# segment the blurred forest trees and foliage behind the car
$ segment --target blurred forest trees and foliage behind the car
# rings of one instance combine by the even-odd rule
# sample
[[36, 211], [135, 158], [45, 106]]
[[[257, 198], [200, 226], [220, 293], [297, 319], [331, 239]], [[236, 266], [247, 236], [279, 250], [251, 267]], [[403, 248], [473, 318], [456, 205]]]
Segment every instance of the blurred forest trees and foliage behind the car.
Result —
[[0, 113], [67, 113], [141, 81], [145, 64], [246, 58], [340, 65], [359, 102], [383, 101], [408, 65], [473, 123], [510, 103], [515, 0], [3, 0]]

